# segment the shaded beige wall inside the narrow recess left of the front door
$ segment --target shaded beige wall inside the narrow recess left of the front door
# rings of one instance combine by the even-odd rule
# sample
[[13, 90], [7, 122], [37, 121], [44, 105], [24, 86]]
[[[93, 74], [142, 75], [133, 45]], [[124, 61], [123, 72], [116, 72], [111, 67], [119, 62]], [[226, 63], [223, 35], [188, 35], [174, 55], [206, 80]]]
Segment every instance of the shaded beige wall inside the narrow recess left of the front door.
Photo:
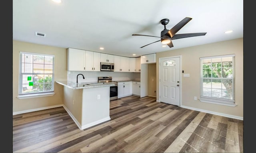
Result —
[[148, 64], [148, 96], [156, 97], [156, 64]]

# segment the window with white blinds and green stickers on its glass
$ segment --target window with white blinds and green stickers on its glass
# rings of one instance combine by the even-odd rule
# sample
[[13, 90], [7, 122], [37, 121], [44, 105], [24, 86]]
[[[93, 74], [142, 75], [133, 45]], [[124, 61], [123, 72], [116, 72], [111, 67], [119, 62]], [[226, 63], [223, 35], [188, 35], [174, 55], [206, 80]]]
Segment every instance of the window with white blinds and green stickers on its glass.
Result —
[[19, 95], [54, 92], [54, 55], [20, 52]]

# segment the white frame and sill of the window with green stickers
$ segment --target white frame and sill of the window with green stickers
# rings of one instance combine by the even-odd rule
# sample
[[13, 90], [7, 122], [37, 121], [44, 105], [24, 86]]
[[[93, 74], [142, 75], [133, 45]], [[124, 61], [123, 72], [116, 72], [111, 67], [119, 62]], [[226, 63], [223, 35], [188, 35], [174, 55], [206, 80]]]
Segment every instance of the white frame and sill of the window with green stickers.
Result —
[[[50, 56], [52, 57], [52, 73], [36, 73], [34, 71], [32, 71], [32, 73], [24, 73], [22, 72], [22, 55], [23, 54], [30, 54], [30, 55], [40, 55], [40, 56]], [[55, 56], [54, 55], [49, 55], [49, 54], [42, 54], [42, 53], [30, 53], [30, 52], [23, 52], [23, 51], [20, 51], [20, 56], [19, 56], [19, 83], [18, 83], [18, 96], [17, 98], [19, 99], [26, 99], [26, 98], [38, 98], [38, 97], [44, 97], [44, 96], [53, 96], [55, 93], [54, 93], [54, 58]], [[34, 63], [32, 62], [31, 65], [33, 65]], [[43, 64], [44, 65], [44, 68], [45, 68], [45, 63]], [[51, 80], [51, 89], [50, 90], [47, 90], [47, 91], [39, 91], [39, 92], [28, 92], [28, 93], [23, 93], [23, 80], [22, 80], [22, 77], [23, 75], [31, 75], [31, 76], [34, 76], [34, 75], [51, 75], [52, 76], [52, 80]], [[33, 77], [32, 77], [33, 79]], [[43, 80], [45, 79], [45, 76], [43, 78]], [[34, 83], [34, 80], [32, 80], [32, 82]], [[44, 83], [43, 83], [44, 84]], [[45, 88], [45, 87], [44, 87]]]

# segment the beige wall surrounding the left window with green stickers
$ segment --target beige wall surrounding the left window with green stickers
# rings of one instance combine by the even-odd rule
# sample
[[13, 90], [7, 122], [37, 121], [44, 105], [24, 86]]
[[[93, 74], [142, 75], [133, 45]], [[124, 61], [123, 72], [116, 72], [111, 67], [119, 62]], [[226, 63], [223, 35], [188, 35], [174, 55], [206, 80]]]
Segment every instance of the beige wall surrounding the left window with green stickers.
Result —
[[48, 108], [63, 104], [63, 86], [54, 83], [53, 96], [18, 99], [18, 82], [19, 82], [19, 53], [20, 51], [31, 53], [42, 53], [55, 55], [54, 58], [54, 80], [67, 80], [67, 49], [59, 47], [50, 47], [34, 43], [25, 43], [13, 41], [12, 44], [12, 112], [22, 112], [26, 110], [35, 110], [39, 108]]

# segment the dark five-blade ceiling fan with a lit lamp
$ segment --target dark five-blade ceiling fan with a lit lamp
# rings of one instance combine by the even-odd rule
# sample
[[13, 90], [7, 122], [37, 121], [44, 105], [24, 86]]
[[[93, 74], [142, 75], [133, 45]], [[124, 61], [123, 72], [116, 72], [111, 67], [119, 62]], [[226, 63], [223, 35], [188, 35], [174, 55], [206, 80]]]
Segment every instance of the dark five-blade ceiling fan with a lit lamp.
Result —
[[[174, 39], [180, 39], [180, 38], [187, 38], [187, 37], [195, 37], [195, 36], [200, 36], [200, 35], [205, 35], [206, 32], [202, 32], [202, 33], [183, 33], [183, 34], [176, 34], [183, 26], [185, 26], [190, 20], [192, 20], [192, 18], [184, 18], [183, 20], [181, 20], [178, 24], [176, 24], [174, 27], [172, 27], [172, 29], [168, 30], [166, 29], [166, 25], [169, 23], [169, 19], [162, 19], [160, 21], [160, 23], [162, 25], [164, 25], [164, 30], [161, 31], [161, 38], [158, 41], [161, 41], [162, 44], [166, 44], [168, 45], [170, 48], [173, 47], [172, 44], [172, 40]], [[132, 34], [132, 35], [139, 35], [139, 36], [148, 36], [148, 37], [157, 37], [157, 36], [152, 36], [152, 35], [140, 35], [140, 34]], [[158, 41], [155, 41], [153, 43], [156, 43]], [[150, 43], [152, 44], [152, 43]], [[148, 45], [150, 45], [148, 44]], [[147, 45], [145, 45], [147, 46]], [[142, 46], [142, 47], [145, 47]], [[142, 48], [140, 47], [140, 48]]]

